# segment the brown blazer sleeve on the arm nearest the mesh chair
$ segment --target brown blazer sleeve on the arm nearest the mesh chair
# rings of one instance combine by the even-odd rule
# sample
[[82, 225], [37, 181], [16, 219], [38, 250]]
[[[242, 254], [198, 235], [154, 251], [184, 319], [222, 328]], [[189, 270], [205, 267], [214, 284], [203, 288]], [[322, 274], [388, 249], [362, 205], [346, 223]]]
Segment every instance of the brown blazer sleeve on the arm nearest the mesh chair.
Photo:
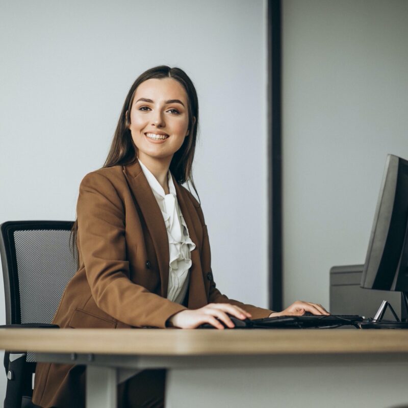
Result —
[[92, 172], [84, 177], [77, 217], [81, 256], [99, 309], [131, 326], [155, 327], [165, 327], [170, 316], [186, 309], [131, 281], [124, 206], [105, 175]]

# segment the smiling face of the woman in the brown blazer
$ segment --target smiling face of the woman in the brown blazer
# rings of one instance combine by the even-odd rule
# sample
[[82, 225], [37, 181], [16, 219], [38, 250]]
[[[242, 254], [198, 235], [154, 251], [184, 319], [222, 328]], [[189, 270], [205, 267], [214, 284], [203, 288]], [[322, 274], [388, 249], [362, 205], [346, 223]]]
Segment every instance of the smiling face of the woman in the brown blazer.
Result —
[[188, 134], [187, 94], [172, 78], [149, 79], [136, 89], [129, 129], [143, 164], [170, 165]]

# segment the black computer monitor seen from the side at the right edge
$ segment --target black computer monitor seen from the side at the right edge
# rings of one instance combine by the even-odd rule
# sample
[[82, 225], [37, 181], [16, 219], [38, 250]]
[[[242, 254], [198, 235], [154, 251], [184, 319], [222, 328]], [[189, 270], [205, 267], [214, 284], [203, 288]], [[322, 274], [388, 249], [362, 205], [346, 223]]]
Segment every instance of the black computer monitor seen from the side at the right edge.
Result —
[[397, 156], [387, 156], [360, 286], [400, 291], [408, 304], [408, 161]]

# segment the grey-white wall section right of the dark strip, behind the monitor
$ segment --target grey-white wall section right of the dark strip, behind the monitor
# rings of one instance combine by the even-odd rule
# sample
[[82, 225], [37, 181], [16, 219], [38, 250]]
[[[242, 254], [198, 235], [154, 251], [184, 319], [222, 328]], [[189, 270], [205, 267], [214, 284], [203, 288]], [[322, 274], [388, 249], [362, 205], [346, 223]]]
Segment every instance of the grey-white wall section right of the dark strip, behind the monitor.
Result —
[[284, 299], [363, 264], [386, 155], [408, 158], [408, 2], [283, 2]]

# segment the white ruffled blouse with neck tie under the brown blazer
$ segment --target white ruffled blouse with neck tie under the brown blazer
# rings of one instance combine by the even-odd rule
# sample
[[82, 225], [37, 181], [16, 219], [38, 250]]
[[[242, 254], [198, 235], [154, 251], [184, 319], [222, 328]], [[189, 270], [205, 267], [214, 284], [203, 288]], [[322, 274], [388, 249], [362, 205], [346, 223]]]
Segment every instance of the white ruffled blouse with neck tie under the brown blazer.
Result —
[[167, 173], [170, 193], [166, 194], [150, 170], [140, 160], [139, 163], [156, 198], [166, 225], [170, 254], [167, 299], [181, 304], [184, 301], [190, 282], [190, 252], [195, 248], [195, 244], [190, 239], [186, 221], [180, 210], [179, 202], [177, 202], [170, 170]]

